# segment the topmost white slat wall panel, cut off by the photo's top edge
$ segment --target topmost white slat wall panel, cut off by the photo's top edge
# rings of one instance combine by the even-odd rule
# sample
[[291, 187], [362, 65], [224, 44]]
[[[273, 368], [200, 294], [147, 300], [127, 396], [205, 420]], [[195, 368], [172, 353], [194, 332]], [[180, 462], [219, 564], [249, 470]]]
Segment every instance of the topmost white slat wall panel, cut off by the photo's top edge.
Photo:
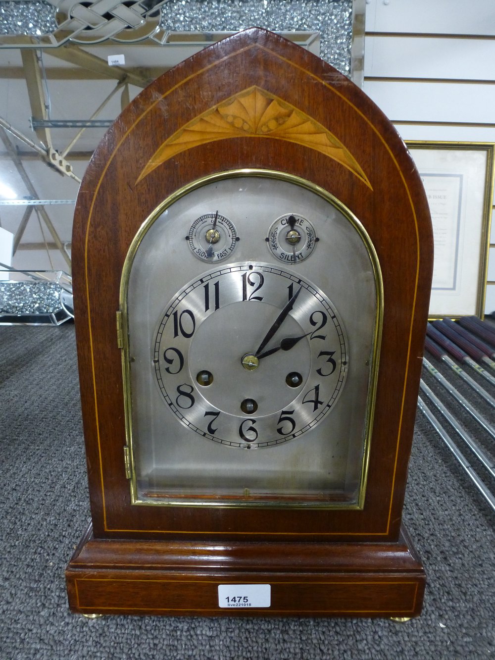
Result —
[[495, 34], [493, 0], [371, 0], [367, 32]]

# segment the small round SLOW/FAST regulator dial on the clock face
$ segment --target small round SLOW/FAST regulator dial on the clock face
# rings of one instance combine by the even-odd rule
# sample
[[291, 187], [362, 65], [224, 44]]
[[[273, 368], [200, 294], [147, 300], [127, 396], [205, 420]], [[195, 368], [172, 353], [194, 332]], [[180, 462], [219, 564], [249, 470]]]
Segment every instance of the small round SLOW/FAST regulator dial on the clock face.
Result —
[[234, 224], [215, 213], [205, 213], [191, 224], [187, 241], [193, 254], [203, 261], [222, 261], [229, 257], [239, 238]]

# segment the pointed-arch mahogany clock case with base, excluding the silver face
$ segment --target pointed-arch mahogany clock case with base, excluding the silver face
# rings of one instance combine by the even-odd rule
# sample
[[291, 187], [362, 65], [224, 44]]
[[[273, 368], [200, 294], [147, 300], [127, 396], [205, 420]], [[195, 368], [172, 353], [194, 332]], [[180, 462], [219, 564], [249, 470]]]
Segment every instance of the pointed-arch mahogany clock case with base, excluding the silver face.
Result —
[[[279, 103], [298, 118], [298, 128], [261, 131], [255, 117], [247, 128], [232, 121], [208, 126], [218, 108], [248, 97]], [[143, 222], [170, 195], [232, 170], [271, 170], [311, 182], [358, 218], [376, 251], [383, 323], [360, 507], [132, 504], [116, 330], [125, 259]], [[174, 67], [125, 109], [92, 158], [77, 201], [73, 272], [92, 527], [67, 568], [71, 609], [225, 614], [216, 601], [219, 581], [278, 576], [273, 607], [242, 614], [296, 613], [294, 602], [298, 614], [419, 613], [424, 572], [401, 531], [401, 513], [432, 229], [407, 149], [361, 90], [259, 28]], [[206, 591], [195, 595], [197, 581]]]

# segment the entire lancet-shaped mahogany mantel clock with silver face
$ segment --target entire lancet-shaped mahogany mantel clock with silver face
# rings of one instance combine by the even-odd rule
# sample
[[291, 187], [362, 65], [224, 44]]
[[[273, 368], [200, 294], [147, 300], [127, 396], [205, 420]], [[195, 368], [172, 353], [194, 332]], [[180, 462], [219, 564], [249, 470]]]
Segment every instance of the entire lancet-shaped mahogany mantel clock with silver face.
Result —
[[432, 274], [391, 123], [252, 28], [96, 150], [73, 270], [86, 614], [416, 616], [401, 526]]

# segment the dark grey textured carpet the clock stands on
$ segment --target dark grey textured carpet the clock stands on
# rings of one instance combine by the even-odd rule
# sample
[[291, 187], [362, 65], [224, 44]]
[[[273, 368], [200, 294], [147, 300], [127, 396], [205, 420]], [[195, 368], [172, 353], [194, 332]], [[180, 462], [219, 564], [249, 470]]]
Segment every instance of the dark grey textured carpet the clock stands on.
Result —
[[495, 658], [495, 515], [420, 413], [404, 519], [428, 586], [406, 624], [70, 614], [65, 565], [90, 518], [73, 325], [0, 327], [0, 488], [0, 660]]

